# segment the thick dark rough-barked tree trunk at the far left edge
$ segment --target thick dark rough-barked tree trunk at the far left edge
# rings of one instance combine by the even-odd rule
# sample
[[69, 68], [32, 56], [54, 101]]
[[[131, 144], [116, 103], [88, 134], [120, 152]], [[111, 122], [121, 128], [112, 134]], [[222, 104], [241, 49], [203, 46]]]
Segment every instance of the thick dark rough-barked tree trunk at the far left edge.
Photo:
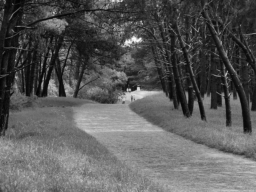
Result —
[[[19, 46], [19, 36], [16, 35], [20, 32], [19, 28], [15, 26], [19, 26], [21, 23], [21, 12], [20, 9], [20, 1], [12, 2], [13, 5], [10, 6], [11, 1], [6, 1], [5, 10], [4, 10], [4, 17], [3, 20], [6, 18], [6, 26], [1, 26], [0, 30], [0, 136], [5, 135], [5, 131], [8, 128], [8, 119], [9, 119], [9, 106], [10, 106], [10, 97], [11, 97], [11, 87], [12, 82], [14, 80], [14, 66], [15, 66], [15, 56], [17, 49], [5, 49], [10, 47], [18, 47]], [[10, 16], [12, 18], [10, 19]], [[5, 21], [2, 21], [5, 22]], [[6, 28], [2, 31], [2, 27]], [[4, 40], [5, 39], [5, 40]], [[2, 47], [3, 45], [3, 47]]]

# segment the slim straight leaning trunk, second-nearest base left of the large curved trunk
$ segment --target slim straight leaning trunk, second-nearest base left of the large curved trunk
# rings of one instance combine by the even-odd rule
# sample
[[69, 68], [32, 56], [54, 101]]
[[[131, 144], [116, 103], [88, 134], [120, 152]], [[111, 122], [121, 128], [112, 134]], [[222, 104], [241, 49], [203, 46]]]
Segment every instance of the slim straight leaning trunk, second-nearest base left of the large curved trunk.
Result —
[[197, 87], [197, 84], [196, 84], [196, 79], [195, 79], [194, 72], [193, 72], [193, 69], [192, 69], [192, 66], [191, 66], [190, 58], [189, 58], [189, 55], [188, 55], [188, 50], [187, 50], [187, 48], [186, 48], [186, 46], [185, 46], [185, 44], [183, 42], [183, 39], [181, 37], [180, 29], [179, 29], [177, 20], [175, 20], [175, 22], [174, 22], [174, 27], [175, 27], [176, 33], [178, 35], [178, 39], [180, 41], [180, 47], [182, 49], [184, 58], [186, 60], [186, 65], [187, 65], [187, 68], [188, 68], [188, 72], [189, 72], [189, 75], [190, 75], [190, 79], [191, 79], [192, 85], [193, 85], [194, 90], [196, 92], [196, 97], [197, 97], [197, 102], [198, 102], [198, 106], [199, 106], [199, 110], [200, 110], [201, 119], [203, 121], [206, 121], [203, 100], [201, 98], [200, 91], [199, 91], [199, 89]]

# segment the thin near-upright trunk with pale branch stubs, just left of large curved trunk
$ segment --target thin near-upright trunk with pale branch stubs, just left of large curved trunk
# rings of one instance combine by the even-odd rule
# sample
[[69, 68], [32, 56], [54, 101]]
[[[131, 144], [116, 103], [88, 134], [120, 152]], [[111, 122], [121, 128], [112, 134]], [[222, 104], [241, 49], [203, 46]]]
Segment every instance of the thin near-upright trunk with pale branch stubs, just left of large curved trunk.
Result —
[[228, 92], [228, 82], [227, 82], [227, 76], [225, 71], [225, 65], [222, 61], [220, 61], [220, 71], [221, 71], [221, 80], [223, 84], [224, 99], [225, 99], [225, 106], [226, 106], [226, 127], [230, 127], [232, 125], [231, 106], [230, 106], [230, 98], [229, 98], [229, 92]]

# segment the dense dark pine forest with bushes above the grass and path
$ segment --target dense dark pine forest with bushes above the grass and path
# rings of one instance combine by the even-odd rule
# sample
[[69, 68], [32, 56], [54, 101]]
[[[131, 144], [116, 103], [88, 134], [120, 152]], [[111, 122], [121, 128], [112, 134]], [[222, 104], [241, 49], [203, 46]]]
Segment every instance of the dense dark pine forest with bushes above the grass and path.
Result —
[[[115, 103], [128, 86], [162, 89], [185, 117], [241, 102], [256, 110], [255, 0], [6, 0], [0, 3], [0, 135], [15, 94]], [[134, 89], [133, 89], [134, 90]]]

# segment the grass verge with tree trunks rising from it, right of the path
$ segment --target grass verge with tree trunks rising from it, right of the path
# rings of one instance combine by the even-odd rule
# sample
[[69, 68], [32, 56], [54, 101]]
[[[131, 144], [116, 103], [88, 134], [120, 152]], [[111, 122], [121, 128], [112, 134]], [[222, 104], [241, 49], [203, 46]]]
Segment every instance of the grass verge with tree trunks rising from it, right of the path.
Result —
[[130, 108], [149, 122], [196, 143], [256, 160], [256, 112], [251, 111], [252, 134], [243, 133], [241, 105], [231, 99], [232, 127], [226, 127], [225, 102], [217, 110], [210, 109], [211, 100], [204, 99], [207, 123], [200, 118], [197, 101], [191, 118], [185, 118], [181, 107], [173, 108], [163, 93], [147, 96], [130, 104]]

